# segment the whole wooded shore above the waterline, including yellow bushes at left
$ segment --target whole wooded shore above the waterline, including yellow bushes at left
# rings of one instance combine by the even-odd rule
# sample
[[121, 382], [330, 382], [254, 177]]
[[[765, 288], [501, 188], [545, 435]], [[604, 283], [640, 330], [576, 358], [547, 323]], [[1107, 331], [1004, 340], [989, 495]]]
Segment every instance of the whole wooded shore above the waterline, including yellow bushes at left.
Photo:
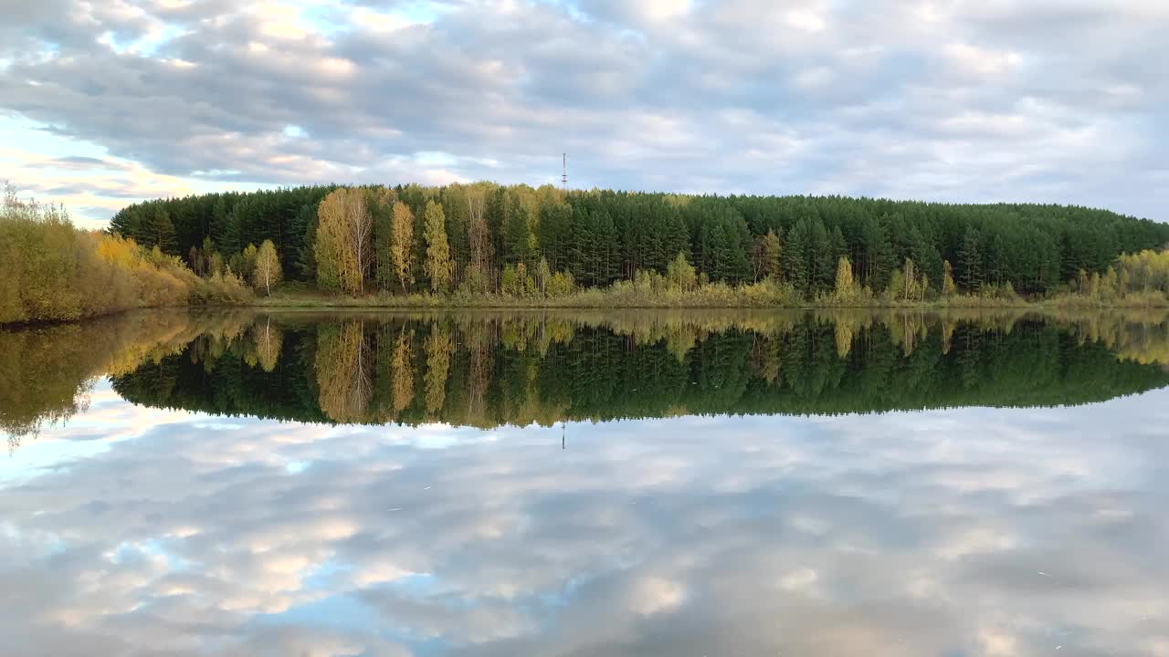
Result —
[[[0, 324], [144, 306], [1169, 305], [1169, 224], [1068, 206], [492, 182], [0, 205]], [[262, 298], [257, 298], [262, 297]]]

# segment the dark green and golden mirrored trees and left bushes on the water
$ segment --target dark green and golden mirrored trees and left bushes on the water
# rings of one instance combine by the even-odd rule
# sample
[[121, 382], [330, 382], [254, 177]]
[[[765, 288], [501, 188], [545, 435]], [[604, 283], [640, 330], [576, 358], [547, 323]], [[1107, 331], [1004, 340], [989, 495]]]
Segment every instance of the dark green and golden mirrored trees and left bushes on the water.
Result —
[[0, 429], [158, 408], [490, 428], [1064, 406], [1169, 385], [1164, 312], [146, 311], [0, 332]]

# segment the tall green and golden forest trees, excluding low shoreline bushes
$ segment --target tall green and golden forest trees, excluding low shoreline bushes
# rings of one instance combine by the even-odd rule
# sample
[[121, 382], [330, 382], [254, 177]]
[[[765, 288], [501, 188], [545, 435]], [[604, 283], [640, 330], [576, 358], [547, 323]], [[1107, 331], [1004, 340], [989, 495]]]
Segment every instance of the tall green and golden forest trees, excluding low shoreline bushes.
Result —
[[907, 299], [1043, 295], [1169, 242], [1167, 224], [1071, 206], [490, 182], [205, 194], [132, 205], [111, 227], [205, 275], [241, 274], [245, 249], [270, 241], [285, 278], [348, 293], [548, 293], [666, 275], [682, 258], [698, 284], [767, 279], [803, 298], [839, 291], [845, 272], [849, 286]]

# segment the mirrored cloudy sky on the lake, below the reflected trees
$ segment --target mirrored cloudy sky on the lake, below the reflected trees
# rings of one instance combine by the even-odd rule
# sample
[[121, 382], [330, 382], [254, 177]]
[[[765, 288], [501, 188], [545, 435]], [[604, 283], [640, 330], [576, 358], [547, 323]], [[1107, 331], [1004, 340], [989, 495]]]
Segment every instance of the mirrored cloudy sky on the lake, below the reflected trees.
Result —
[[1169, 390], [566, 450], [108, 390], [5, 464], [6, 655], [1169, 653]]

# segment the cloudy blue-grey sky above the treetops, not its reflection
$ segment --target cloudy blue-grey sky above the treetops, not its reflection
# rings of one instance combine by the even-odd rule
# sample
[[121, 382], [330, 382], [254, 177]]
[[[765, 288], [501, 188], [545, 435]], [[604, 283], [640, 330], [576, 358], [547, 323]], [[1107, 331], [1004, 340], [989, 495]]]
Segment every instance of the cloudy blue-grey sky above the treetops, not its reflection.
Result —
[[0, 179], [496, 180], [1169, 221], [1163, 0], [0, 0]]

